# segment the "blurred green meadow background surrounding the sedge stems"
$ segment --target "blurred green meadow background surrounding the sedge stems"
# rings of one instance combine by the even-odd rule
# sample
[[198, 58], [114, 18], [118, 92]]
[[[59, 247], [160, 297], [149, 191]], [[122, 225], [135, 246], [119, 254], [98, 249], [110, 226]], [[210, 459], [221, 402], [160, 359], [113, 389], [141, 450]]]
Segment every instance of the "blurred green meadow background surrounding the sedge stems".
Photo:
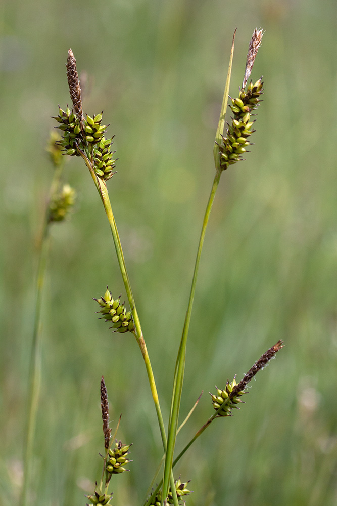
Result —
[[[53, 175], [45, 144], [70, 102], [71, 47], [84, 110], [116, 134], [108, 183], [165, 419], [237, 27], [230, 94], [255, 27], [264, 76], [255, 143], [226, 171], [200, 266], [177, 448], [213, 413], [208, 391], [238, 378], [278, 339], [246, 404], [217, 419], [177, 466], [187, 504], [329, 506], [337, 501], [335, 0], [28, 0], [0, 5], [2, 276], [0, 503], [22, 479], [37, 242]], [[100, 378], [112, 428], [133, 442], [113, 504], [141, 504], [161, 457], [139, 349], [94, 312], [125, 292], [108, 222], [79, 159], [71, 221], [56, 224], [42, 307], [42, 385], [31, 504], [85, 504], [103, 451]]]

